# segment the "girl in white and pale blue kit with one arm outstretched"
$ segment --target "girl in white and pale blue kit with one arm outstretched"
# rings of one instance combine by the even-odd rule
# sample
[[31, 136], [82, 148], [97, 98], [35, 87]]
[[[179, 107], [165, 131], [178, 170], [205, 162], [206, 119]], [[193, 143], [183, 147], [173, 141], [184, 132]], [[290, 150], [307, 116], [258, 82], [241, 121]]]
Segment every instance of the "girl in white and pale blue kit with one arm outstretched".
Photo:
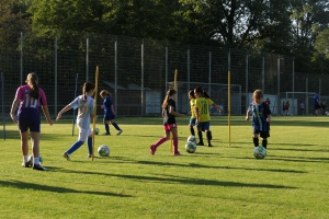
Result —
[[94, 117], [94, 108], [93, 108], [93, 97], [91, 97], [94, 93], [94, 84], [92, 82], [86, 82], [83, 84], [82, 95], [76, 97], [70, 104], [65, 106], [57, 115], [56, 120], [61, 117], [61, 114], [71, 110], [78, 108], [77, 115], [77, 126], [79, 128], [79, 137], [78, 141], [75, 142], [67, 151], [63, 153], [63, 157], [68, 161], [70, 159], [70, 154], [79, 149], [86, 140], [88, 140], [88, 158], [91, 158], [92, 154], [92, 130], [90, 128], [90, 123]]

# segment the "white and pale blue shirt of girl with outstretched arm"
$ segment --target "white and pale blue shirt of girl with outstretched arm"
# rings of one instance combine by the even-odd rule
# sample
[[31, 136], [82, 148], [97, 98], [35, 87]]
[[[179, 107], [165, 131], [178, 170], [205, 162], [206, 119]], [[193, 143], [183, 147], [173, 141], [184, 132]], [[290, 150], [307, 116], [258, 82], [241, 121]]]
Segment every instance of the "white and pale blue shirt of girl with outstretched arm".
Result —
[[89, 129], [91, 117], [94, 114], [93, 97], [87, 95], [87, 101], [83, 101], [83, 95], [79, 95], [69, 105], [72, 108], [78, 108], [77, 125], [81, 129]]

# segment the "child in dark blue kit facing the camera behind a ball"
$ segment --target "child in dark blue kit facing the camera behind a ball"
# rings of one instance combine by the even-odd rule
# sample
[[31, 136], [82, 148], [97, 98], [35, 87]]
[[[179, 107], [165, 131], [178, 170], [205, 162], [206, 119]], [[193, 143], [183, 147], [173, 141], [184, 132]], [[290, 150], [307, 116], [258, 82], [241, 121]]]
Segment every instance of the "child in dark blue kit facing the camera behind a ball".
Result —
[[246, 120], [252, 116], [252, 141], [254, 147], [259, 146], [259, 137], [262, 139], [262, 146], [268, 148], [268, 138], [270, 137], [270, 120], [271, 110], [269, 105], [263, 102], [263, 92], [256, 90], [252, 94], [252, 103], [249, 105]]

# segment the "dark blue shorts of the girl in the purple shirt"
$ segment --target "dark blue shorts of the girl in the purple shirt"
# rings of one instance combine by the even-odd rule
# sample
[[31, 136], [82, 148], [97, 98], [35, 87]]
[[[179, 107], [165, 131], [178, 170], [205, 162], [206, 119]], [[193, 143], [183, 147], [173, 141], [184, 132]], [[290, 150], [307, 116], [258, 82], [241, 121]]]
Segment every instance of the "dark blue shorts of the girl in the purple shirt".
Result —
[[33, 132], [39, 132], [41, 119], [38, 111], [24, 111], [18, 115], [18, 123], [21, 132], [30, 129]]

